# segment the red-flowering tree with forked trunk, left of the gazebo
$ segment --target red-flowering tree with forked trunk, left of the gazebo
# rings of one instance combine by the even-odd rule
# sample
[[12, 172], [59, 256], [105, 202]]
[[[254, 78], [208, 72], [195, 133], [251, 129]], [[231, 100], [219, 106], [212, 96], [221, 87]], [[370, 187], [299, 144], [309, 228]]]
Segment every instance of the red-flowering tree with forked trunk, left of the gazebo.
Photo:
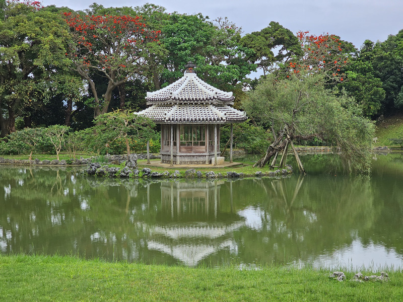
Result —
[[[158, 43], [160, 31], [148, 30], [141, 16], [95, 16], [64, 13], [74, 44], [66, 53], [94, 96], [94, 117], [108, 111], [112, 91], [135, 74], [142, 74], [148, 49]], [[95, 77], [106, 79], [97, 90]], [[101, 95], [101, 96], [100, 96]]]

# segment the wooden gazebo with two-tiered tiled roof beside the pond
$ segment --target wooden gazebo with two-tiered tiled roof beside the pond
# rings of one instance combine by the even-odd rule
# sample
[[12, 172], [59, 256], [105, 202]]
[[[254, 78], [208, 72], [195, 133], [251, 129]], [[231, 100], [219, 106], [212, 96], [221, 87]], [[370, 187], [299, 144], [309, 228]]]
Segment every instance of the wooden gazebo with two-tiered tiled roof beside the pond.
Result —
[[[147, 109], [139, 112], [161, 124], [161, 163], [217, 165], [220, 125], [246, 121], [246, 114], [232, 108], [232, 92], [224, 92], [204, 81], [189, 62], [181, 79], [147, 93]], [[220, 158], [219, 158], [220, 159]]]

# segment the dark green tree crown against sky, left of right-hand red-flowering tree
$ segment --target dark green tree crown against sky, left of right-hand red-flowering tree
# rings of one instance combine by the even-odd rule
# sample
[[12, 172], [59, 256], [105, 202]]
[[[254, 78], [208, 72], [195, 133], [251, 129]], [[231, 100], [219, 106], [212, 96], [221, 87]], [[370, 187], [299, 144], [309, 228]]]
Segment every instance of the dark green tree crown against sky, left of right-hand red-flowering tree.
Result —
[[[241, 43], [253, 50], [250, 59], [263, 70], [264, 75], [274, 64], [303, 54], [298, 38], [289, 29], [274, 21], [261, 31], [246, 34], [242, 37]], [[274, 50], [277, 52], [276, 55]]]

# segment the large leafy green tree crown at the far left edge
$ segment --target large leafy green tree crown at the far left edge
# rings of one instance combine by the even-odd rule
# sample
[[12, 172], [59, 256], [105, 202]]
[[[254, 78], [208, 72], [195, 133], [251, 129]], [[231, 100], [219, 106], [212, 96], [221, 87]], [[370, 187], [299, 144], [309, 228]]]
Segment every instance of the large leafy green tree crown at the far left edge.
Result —
[[16, 117], [50, 100], [54, 70], [69, 64], [68, 31], [55, 13], [39, 2], [7, 2], [0, 20], [1, 136], [16, 130]]

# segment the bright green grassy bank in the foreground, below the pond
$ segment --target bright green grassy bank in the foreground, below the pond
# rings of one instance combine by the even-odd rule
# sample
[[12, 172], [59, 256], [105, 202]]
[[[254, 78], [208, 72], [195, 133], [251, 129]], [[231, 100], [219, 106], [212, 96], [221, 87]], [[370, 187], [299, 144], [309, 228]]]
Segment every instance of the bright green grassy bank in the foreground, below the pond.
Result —
[[[346, 281], [330, 270], [188, 268], [68, 256], [0, 256], [2, 301], [400, 301], [403, 273], [388, 282]], [[366, 272], [362, 272], [365, 274]], [[367, 274], [372, 274], [367, 272]]]

